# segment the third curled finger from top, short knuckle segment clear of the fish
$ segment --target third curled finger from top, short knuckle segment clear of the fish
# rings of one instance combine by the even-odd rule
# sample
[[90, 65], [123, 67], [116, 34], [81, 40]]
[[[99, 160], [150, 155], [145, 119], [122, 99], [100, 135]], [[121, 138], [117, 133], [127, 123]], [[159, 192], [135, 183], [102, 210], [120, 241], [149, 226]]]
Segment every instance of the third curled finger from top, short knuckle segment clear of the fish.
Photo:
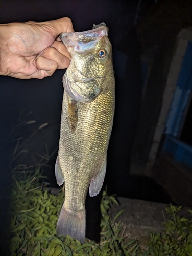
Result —
[[36, 67], [39, 70], [46, 71], [46, 73], [51, 76], [58, 68], [58, 64], [54, 60], [47, 59], [43, 56], [39, 56], [36, 59]]

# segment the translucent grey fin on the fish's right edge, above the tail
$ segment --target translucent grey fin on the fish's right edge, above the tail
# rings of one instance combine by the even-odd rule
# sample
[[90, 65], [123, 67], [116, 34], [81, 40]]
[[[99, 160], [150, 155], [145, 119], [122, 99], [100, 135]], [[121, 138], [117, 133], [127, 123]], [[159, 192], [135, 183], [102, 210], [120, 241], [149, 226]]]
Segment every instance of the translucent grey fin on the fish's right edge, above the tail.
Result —
[[89, 186], [89, 195], [91, 197], [98, 195], [103, 186], [103, 181], [106, 173], [106, 166], [107, 166], [107, 157], [105, 157], [103, 166], [101, 167], [99, 174], [91, 180], [91, 183]]

